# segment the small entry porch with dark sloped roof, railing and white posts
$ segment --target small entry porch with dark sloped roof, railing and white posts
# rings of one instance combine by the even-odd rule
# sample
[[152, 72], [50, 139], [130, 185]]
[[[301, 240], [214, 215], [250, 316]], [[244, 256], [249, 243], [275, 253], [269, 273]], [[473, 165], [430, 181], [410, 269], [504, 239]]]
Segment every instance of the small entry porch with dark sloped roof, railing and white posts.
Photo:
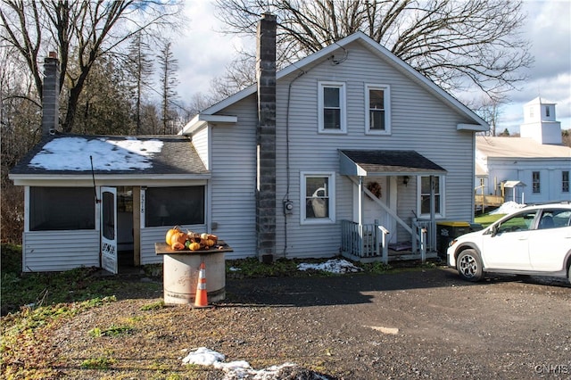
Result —
[[[446, 170], [414, 151], [340, 151], [341, 174], [350, 178], [355, 192], [355, 217], [342, 220], [341, 252], [362, 262], [422, 260], [437, 258], [436, 199], [438, 176]], [[421, 180], [417, 178], [422, 177]], [[379, 197], [371, 180], [383, 178], [387, 195]], [[409, 186], [410, 182], [410, 186]], [[376, 183], [376, 182], [372, 182]], [[404, 186], [402, 186], [404, 184]], [[418, 186], [423, 188], [417, 191]], [[398, 185], [398, 186], [397, 186]], [[418, 194], [423, 194], [418, 200]], [[428, 216], [417, 217], [414, 210], [399, 213], [398, 198], [414, 198], [426, 203]], [[366, 220], [371, 203], [380, 211], [374, 221]], [[398, 235], [398, 236], [397, 236]]]

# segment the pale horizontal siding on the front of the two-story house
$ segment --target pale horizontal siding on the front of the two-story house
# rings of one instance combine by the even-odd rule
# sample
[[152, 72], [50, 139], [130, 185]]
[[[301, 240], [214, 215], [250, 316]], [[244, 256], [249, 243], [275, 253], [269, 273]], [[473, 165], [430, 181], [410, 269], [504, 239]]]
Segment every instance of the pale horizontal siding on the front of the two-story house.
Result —
[[[339, 149], [414, 150], [447, 170], [443, 215], [446, 219], [473, 218], [474, 133], [458, 131], [459, 123], [473, 123], [432, 93], [418, 86], [371, 54], [359, 43], [338, 65], [324, 60], [299, 78], [297, 72], [277, 83], [277, 184], [276, 253], [278, 257], [332, 257], [339, 254], [341, 220], [353, 219], [353, 183], [341, 176]], [[294, 78], [296, 78], [294, 80]], [[294, 80], [294, 81], [293, 81]], [[293, 82], [292, 82], [293, 81]], [[291, 87], [290, 87], [291, 83]], [[319, 88], [322, 83], [343, 84], [346, 133], [321, 133]], [[367, 84], [390, 87], [390, 136], [366, 135]], [[289, 112], [287, 104], [289, 103]], [[411, 104], [414, 106], [411, 107]], [[211, 220], [213, 233], [234, 248], [227, 258], [256, 255], [256, 101], [255, 95], [219, 111], [236, 115], [233, 126], [211, 128]], [[288, 153], [289, 150], [289, 153]], [[335, 222], [302, 224], [302, 172], [335, 173]], [[410, 221], [417, 210], [417, 181], [397, 183], [397, 211]], [[292, 214], [284, 215], [283, 201], [294, 202]], [[410, 235], [397, 228], [399, 241]]]

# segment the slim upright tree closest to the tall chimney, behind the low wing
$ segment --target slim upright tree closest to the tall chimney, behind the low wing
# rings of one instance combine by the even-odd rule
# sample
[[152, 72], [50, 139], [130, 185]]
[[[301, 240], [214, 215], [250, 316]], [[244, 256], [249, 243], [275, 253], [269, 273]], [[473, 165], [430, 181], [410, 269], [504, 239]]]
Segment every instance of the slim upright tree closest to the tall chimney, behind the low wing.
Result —
[[163, 43], [161, 54], [157, 55], [159, 60], [159, 74], [161, 87], [161, 121], [162, 134], [167, 135], [173, 132], [172, 121], [176, 119], [176, 112], [173, 111], [171, 105], [177, 98], [177, 69], [178, 60], [172, 54], [172, 46], [170, 42]]

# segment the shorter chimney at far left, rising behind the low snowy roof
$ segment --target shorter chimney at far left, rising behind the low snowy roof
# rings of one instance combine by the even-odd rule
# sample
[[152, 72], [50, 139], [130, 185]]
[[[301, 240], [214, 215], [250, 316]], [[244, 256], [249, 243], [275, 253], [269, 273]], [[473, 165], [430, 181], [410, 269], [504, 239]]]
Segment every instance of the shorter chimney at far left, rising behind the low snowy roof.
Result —
[[42, 136], [52, 135], [59, 125], [60, 62], [55, 52], [44, 59], [42, 90]]

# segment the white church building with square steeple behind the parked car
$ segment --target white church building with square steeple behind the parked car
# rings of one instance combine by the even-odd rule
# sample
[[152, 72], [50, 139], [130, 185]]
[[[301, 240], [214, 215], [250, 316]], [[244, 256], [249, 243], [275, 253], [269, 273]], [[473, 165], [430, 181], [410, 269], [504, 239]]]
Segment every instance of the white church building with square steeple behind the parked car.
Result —
[[571, 200], [571, 147], [562, 145], [555, 104], [541, 97], [525, 103], [520, 137], [476, 136], [476, 194], [518, 203]]

